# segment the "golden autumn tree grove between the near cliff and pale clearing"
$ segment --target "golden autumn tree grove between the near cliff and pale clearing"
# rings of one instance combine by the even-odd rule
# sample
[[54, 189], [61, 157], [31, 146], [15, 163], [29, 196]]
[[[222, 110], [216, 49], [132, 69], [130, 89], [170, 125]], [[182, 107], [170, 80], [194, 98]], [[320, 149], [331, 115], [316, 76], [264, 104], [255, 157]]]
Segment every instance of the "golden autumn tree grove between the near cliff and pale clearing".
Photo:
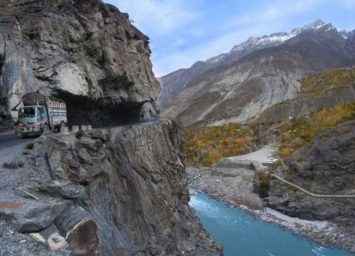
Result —
[[239, 123], [186, 129], [184, 151], [187, 162], [208, 166], [222, 157], [249, 153], [258, 142], [255, 134], [250, 126]]

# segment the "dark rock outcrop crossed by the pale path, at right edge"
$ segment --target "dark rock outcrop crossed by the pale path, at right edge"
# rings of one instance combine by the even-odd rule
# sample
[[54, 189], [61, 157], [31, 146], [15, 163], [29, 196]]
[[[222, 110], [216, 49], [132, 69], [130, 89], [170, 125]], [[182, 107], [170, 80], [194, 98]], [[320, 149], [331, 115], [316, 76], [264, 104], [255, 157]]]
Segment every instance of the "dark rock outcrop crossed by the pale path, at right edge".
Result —
[[[287, 159], [290, 182], [314, 194], [354, 194], [355, 121], [329, 128]], [[268, 204], [289, 216], [354, 223], [354, 198], [316, 198], [271, 180]], [[347, 224], [346, 224], [347, 225]]]

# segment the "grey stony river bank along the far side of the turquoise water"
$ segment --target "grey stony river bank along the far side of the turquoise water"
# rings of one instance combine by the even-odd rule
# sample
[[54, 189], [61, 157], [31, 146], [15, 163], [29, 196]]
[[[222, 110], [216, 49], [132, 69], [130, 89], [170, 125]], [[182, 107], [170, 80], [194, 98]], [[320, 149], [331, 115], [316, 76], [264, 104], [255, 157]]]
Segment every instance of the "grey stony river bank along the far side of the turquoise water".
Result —
[[[255, 218], [276, 223], [295, 235], [306, 236], [326, 246], [341, 247], [355, 253], [353, 225], [342, 226], [329, 221], [307, 221], [292, 218], [264, 205], [254, 187], [255, 169], [221, 162], [215, 167], [187, 167], [189, 186], [200, 189], [231, 207], [245, 208]], [[192, 192], [193, 193], [193, 192]]]

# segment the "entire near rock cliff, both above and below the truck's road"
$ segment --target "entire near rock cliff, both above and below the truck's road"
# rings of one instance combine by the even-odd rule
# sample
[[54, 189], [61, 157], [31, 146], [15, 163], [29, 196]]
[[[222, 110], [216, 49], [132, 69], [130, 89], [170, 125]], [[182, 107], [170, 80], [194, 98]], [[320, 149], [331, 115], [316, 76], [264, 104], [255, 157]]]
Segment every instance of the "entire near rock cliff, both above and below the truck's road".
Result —
[[0, 28], [1, 126], [39, 91], [65, 100], [70, 125], [112, 127], [1, 150], [19, 169], [0, 167], [0, 255], [222, 255], [187, 204], [183, 133], [158, 118], [148, 37], [129, 16], [99, 0], [0, 0]]

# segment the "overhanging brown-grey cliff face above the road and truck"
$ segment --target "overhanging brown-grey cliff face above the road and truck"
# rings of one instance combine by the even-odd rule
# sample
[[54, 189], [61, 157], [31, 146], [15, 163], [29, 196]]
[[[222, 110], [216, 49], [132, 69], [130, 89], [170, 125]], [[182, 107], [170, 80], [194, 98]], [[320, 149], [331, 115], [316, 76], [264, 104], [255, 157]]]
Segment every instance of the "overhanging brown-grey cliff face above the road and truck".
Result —
[[98, 0], [1, 0], [0, 17], [1, 93], [9, 109], [39, 91], [67, 102], [72, 125], [157, 116], [148, 37], [126, 13]]

